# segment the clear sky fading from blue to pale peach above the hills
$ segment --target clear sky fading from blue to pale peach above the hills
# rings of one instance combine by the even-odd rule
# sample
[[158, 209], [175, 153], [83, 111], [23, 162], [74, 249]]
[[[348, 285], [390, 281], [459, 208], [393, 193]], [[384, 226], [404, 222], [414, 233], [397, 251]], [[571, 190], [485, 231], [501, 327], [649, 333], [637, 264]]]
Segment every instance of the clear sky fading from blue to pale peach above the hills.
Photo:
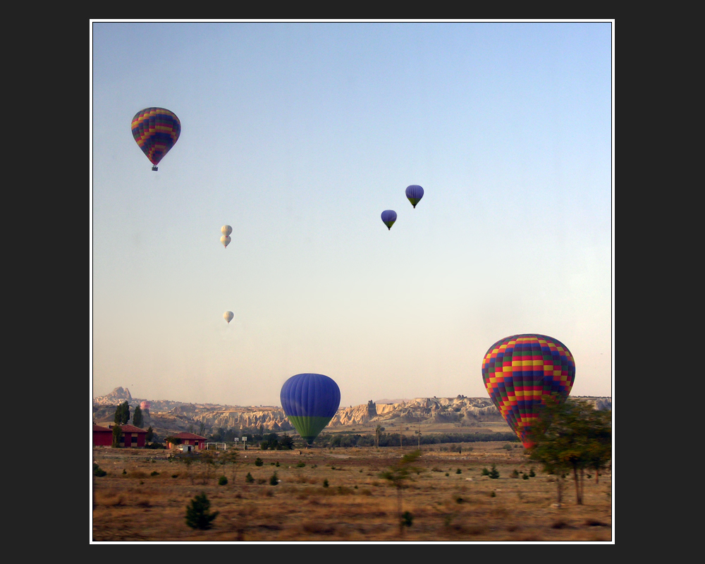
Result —
[[[93, 396], [278, 405], [319, 372], [341, 405], [488, 397], [515, 333], [612, 395], [613, 23], [90, 29]], [[158, 172], [149, 106], [182, 125]]]

